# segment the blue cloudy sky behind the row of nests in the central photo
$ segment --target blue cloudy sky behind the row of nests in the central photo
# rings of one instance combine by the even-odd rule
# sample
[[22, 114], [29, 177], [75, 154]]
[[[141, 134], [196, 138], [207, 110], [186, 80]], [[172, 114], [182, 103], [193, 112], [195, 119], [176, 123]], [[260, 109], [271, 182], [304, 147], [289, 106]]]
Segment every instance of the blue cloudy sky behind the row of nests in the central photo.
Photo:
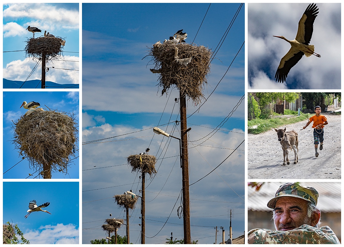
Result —
[[[125, 216], [112, 197], [130, 189], [139, 194], [141, 179], [131, 173], [126, 157], [144, 152], [147, 147], [151, 150], [149, 154], [159, 160], [155, 165], [157, 175], [146, 179], [146, 244], [165, 243], [171, 232], [173, 238], [183, 238], [183, 220], [177, 216], [182, 187], [178, 140], [154, 136], [152, 130], [162, 125], [164, 131], [180, 136], [180, 126], [174, 123], [180, 120], [179, 103], [174, 101], [179, 92], [173, 89], [167, 96], [160, 96], [162, 88], [156, 86], [158, 76], [149, 71], [154, 65], [150, 57], [142, 58], [155, 42], [169, 39], [180, 29], [188, 34], [186, 43], [195, 38], [196, 45], [215, 51], [239, 6], [239, 3], [212, 3], [195, 37], [209, 4], [83, 3], [83, 142], [124, 135], [82, 147], [83, 244], [107, 236], [101, 225], [110, 213], [116, 218]], [[205, 98], [225, 75], [245, 41], [244, 7], [211, 63], [208, 84], [203, 90]], [[187, 14], [175, 17], [180, 11]], [[192, 116], [198, 108], [187, 102], [188, 127], [192, 128], [190, 184], [211, 172], [245, 139], [245, 99], [221, 130], [210, 134], [245, 94], [244, 74], [245, 45], [214, 93]], [[172, 123], [166, 125], [168, 122]], [[199, 244], [214, 243], [215, 226], [224, 226], [228, 238], [230, 209], [233, 237], [244, 234], [244, 143], [214, 172], [190, 186], [191, 237]], [[172, 210], [176, 200], [178, 203]], [[99, 207], [101, 211], [96, 210]], [[153, 237], [171, 211], [168, 223]], [[138, 244], [139, 204], [129, 213], [130, 242]], [[125, 227], [118, 233], [123, 236]], [[218, 239], [221, 236], [219, 231]]]

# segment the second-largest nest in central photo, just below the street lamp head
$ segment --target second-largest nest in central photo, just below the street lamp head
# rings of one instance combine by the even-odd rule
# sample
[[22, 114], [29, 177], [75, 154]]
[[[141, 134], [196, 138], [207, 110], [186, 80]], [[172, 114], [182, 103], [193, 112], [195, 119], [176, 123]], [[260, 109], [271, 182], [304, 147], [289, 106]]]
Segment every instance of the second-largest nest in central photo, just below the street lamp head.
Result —
[[157, 159], [154, 155], [148, 154], [134, 154], [130, 155], [127, 158], [128, 164], [131, 165], [131, 172], [145, 172], [148, 173], [151, 177], [154, 173], [157, 173], [155, 170], [155, 163]]

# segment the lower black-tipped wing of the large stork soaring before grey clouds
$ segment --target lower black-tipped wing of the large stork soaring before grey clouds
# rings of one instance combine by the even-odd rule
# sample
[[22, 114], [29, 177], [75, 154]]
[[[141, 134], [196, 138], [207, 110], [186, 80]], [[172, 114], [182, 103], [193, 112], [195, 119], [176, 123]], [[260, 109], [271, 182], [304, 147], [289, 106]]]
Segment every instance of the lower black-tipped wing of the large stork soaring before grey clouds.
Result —
[[280, 65], [277, 68], [275, 74], [276, 82], [285, 82], [290, 69], [300, 61], [302, 56], [303, 52], [291, 47], [289, 52], [282, 57]]

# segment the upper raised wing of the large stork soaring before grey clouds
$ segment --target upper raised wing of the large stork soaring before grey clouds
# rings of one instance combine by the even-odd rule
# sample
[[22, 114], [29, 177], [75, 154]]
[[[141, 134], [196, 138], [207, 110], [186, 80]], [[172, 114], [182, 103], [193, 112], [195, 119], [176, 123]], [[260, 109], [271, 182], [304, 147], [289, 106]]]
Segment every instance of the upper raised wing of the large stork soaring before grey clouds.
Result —
[[317, 17], [318, 16], [317, 14], [319, 13], [318, 10], [319, 9], [317, 9], [316, 4], [314, 3], [309, 4], [309, 6], [304, 11], [299, 21], [299, 29], [298, 29], [298, 33], [296, 34], [295, 40], [305, 45], [309, 45], [309, 42], [311, 42], [311, 38], [313, 34], [313, 23], [314, 23], [315, 17]]

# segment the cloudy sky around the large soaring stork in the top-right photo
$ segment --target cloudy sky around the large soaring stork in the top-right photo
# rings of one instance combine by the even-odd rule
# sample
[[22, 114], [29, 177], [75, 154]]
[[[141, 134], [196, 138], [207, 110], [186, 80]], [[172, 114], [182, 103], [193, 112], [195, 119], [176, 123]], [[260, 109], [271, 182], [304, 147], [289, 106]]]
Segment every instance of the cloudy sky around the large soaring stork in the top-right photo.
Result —
[[[341, 89], [341, 3], [319, 3], [310, 44], [321, 55], [305, 57], [286, 82], [275, 73], [294, 40], [309, 3], [248, 3], [248, 89]], [[264, 17], [264, 18], [262, 18]]]

